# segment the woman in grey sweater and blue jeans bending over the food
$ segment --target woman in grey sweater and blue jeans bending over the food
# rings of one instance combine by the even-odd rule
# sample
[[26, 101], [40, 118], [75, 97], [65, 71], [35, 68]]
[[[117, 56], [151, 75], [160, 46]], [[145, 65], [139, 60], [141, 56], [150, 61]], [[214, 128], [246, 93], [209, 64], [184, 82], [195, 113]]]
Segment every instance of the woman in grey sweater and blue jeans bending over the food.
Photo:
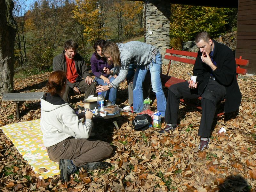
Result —
[[[133, 111], [137, 113], [141, 112], [143, 108], [142, 83], [148, 70], [150, 71], [153, 92], [156, 93], [157, 110], [164, 117], [166, 98], [160, 78], [162, 59], [158, 50], [150, 44], [139, 41], [130, 41], [125, 44], [107, 42], [103, 49], [103, 54], [108, 59], [108, 62], [113, 62], [114, 66], [120, 66], [119, 75], [110, 82], [110, 87], [114, 89], [126, 78], [130, 63], [137, 65], [133, 78]], [[106, 73], [115, 75], [116, 71], [106, 69]], [[101, 90], [108, 90], [108, 86], [102, 86], [99, 91]]]

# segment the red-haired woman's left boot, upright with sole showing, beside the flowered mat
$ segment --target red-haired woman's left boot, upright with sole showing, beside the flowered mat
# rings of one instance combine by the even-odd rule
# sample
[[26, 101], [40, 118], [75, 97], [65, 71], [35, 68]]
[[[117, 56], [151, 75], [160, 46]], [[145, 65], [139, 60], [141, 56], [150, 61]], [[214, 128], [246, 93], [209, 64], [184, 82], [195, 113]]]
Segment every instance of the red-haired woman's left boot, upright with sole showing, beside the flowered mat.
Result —
[[60, 159], [60, 180], [69, 181], [69, 176], [78, 170], [70, 159]]

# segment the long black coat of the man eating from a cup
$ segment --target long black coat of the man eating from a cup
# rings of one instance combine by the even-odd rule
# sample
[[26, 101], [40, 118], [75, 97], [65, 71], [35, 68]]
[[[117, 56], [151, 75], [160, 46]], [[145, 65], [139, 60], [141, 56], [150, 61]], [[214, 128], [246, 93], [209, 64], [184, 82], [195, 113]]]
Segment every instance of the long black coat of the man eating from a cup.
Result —
[[[241, 92], [236, 81], [236, 60], [232, 50], [224, 45], [214, 41], [213, 60], [217, 63], [217, 69], [213, 71], [215, 80], [226, 87], [227, 95], [224, 110], [226, 113], [236, 111], [241, 104]], [[198, 51], [196, 63], [193, 68], [193, 74], [197, 76], [198, 93], [204, 92], [212, 69], [201, 60], [202, 53]]]

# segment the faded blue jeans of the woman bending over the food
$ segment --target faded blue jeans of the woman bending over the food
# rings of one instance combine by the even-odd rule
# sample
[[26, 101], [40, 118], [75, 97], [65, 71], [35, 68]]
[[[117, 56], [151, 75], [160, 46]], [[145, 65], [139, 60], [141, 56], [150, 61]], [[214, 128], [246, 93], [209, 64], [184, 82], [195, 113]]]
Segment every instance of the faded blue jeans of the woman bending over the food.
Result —
[[[150, 71], [152, 89], [156, 93], [157, 100], [157, 110], [161, 113], [162, 117], [165, 115], [166, 108], [166, 98], [162, 88], [162, 82], [160, 78], [160, 72], [162, 69], [162, 59], [161, 54], [156, 55], [156, 62], [152, 60], [152, 64], [148, 64]], [[148, 69], [145, 68], [145, 65], [137, 66], [134, 79], [133, 79], [133, 111], [139, 113], [143, 108], [143, 89], [142, 83], [145, 79], [145, 76], [148, 72]], [[136, 98], [136, 99], [134, 99]]]

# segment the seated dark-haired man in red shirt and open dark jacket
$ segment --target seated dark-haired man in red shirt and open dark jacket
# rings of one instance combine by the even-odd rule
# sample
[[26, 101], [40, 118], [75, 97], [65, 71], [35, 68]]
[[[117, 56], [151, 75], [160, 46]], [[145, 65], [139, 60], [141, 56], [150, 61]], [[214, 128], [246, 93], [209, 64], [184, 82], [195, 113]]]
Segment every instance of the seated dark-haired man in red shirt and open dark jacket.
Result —
[[84, 99], [89, 95], [94, 95], [95, 85], [88, 72], [88, 68], [77, 52], [77, 43], [68, 40], [64, 44], [64, 50], [53, 59], [53, 70], [62, 70], [66, 72], [67, 89], [63, 95], [63, 100], [70, 103], [70, 95], [85, 93]]

